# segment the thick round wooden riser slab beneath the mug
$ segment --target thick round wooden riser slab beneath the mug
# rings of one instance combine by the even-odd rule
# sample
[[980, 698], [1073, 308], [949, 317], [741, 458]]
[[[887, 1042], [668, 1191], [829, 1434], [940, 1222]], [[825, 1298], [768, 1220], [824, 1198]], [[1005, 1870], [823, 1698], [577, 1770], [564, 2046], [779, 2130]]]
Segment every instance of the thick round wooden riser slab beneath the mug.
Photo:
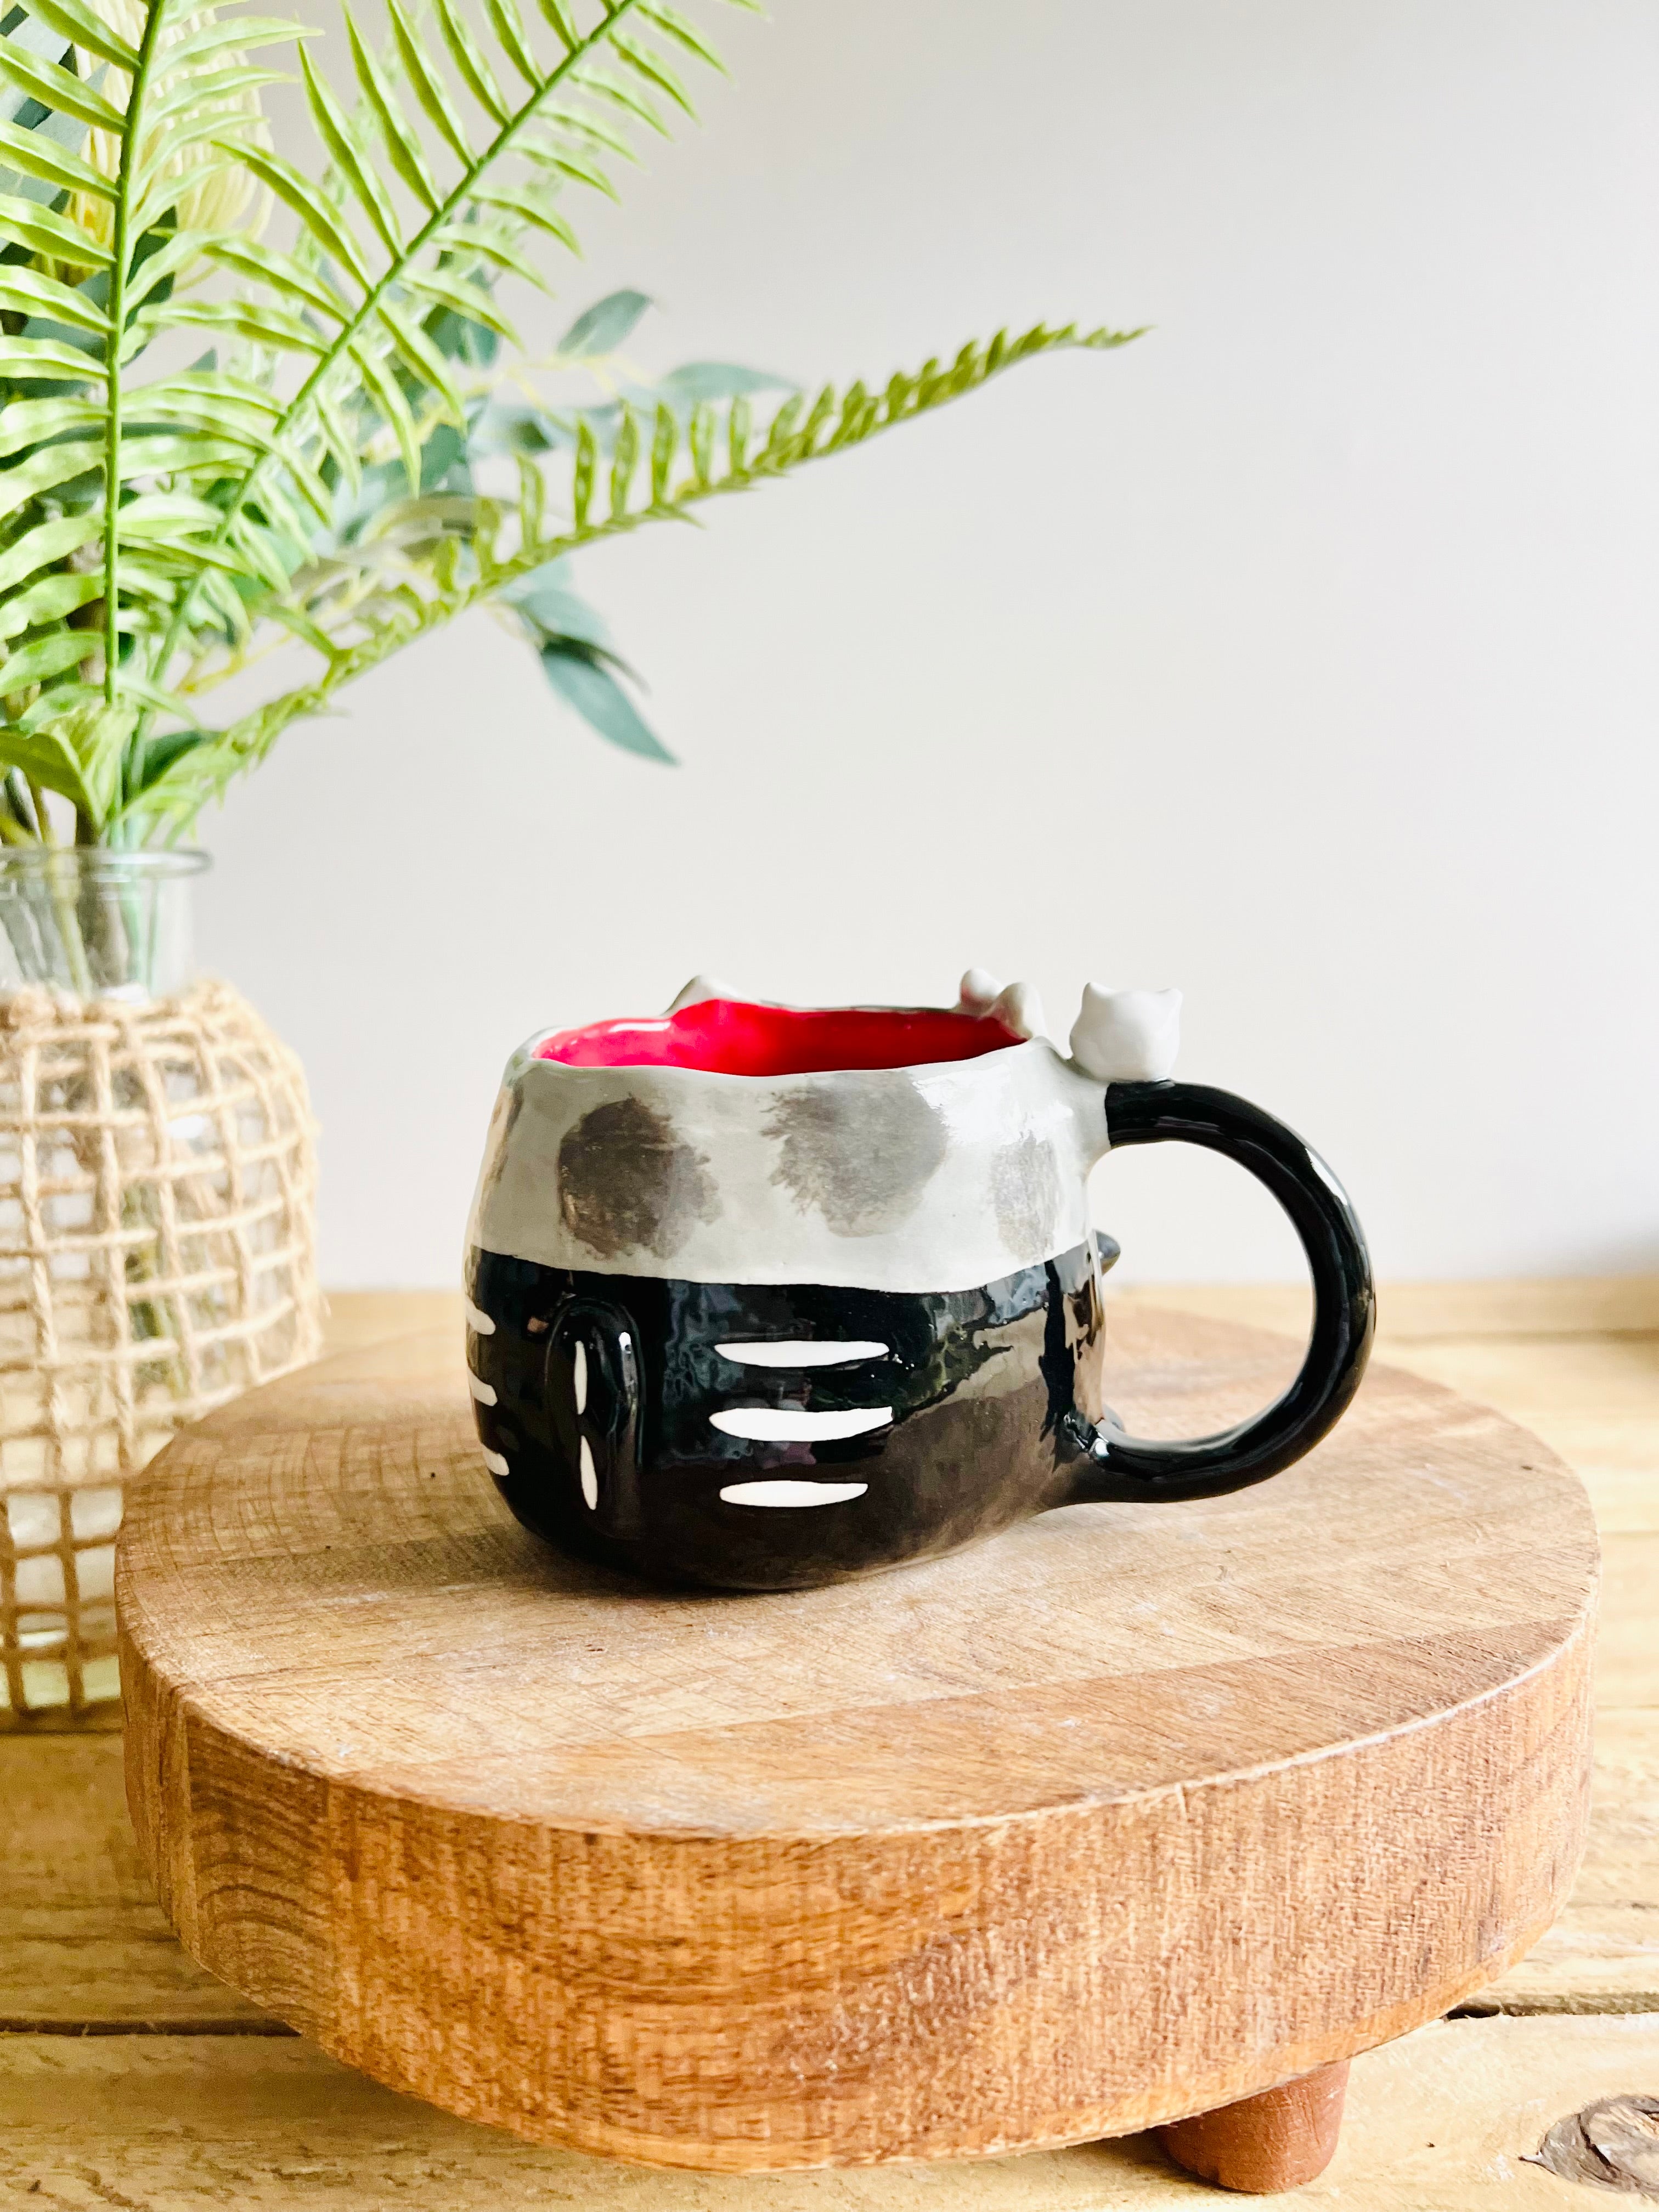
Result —
[[[1144, 1433], [1283, 1338], [1113, 1318]], [[460, 1347], [226, 1407], [122, 1540], [128, 1794], [215, 1973], [396, 2088], [719, 2172], [1166, 2124], [1405, 2033], [1571, 1885], [1595, 1535], [1374, 1369], [1301, 1467], [774, 1597], [546, 1551]]]

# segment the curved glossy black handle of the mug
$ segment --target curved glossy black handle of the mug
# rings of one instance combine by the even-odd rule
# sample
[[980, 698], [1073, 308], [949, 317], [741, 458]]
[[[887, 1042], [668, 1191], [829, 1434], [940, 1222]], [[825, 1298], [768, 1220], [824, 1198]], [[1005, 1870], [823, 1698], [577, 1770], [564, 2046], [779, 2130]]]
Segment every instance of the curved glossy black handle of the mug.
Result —
[[1376, 1332], [1376, 1290], [1365, 1234], [1318, 1152], [1270, 1113], [1208, 1084], [1110, 1084], [1106, 1135], [1128, 1144], [1201, 1144], [1250, 1168], [1290, 1214], [1314, 1276], [1314, 1327], [1301, 1374], [1263, 1413], [1225, 1429], [1159, 1444], [1126, 1436], [1108, 1413], [1082, 1422], [1084, 1464], [1073, 1504], [1104, 1498], [1219, 1498], [1265, 1482], [1301, 1460], [1360, 1387]]

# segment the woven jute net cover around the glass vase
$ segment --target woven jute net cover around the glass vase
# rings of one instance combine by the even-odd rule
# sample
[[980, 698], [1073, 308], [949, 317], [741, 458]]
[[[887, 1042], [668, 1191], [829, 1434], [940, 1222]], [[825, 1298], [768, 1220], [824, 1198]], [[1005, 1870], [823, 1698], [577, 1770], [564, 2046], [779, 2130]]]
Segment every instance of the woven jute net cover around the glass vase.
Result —
[[316, 1358], [305, 1075], [228, 984], [0, 998], [0, 1728], [113, 1725], [124, 1484]]

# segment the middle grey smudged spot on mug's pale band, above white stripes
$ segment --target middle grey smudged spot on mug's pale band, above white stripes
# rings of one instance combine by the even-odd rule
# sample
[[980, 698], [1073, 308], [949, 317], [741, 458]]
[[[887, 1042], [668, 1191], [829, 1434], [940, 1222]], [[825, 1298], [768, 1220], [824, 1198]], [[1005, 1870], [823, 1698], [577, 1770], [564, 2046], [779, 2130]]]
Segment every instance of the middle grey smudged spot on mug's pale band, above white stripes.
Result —
[[779, 1144], [772, 1181], [801, 1212], [818, 1208], [836, 1237], [880, 1237], [916, 1212], [945, 1159], [945, 1115], [907, 1075], [818, 1077], [768, 1115]]

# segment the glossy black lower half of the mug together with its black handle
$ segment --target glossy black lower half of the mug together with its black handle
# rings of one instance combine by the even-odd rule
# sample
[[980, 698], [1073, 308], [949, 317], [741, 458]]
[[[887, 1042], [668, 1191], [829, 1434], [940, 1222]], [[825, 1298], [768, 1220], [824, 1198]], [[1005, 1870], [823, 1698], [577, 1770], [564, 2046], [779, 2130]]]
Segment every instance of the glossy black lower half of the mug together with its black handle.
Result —
[[[956, 1551], [1051, 1506], [1208, 1498], [1301, 1458], [1358, 1387], [1374, 1298], [1365, 1239], [1340, 1186], [1270, 1115], [1194, 1084], [1113, 1084], [1113, 1146], [1181, 1139], [1250, 1168], [1296, 1223], [1314, 1276], [1314, 1332], [1276, 1405], [1225, 1436], [1137, 1442], [1102, 1402], [1102, 1270], [1077, 1248], [969, 1292], [814, 1283], [686, 1283], [577, 1274], [473, 1252], [469, 1334], [491, 1402], [495, 1482], [538, 1535], [657, 1584], [790, 1590]], [[885, 1345], [834, 1367], [757, 1367], [730, 1343]], [[582, 1402], [577, 1402], [582, 1378]], [[750, 1440], [714, 1413], [891, 1407], [838, 1440]], [[586, 1451], [584, 1451], [586, 1447]], [[856, 1498], [750, 1504], [734, 1484], [863, 1484]]]

